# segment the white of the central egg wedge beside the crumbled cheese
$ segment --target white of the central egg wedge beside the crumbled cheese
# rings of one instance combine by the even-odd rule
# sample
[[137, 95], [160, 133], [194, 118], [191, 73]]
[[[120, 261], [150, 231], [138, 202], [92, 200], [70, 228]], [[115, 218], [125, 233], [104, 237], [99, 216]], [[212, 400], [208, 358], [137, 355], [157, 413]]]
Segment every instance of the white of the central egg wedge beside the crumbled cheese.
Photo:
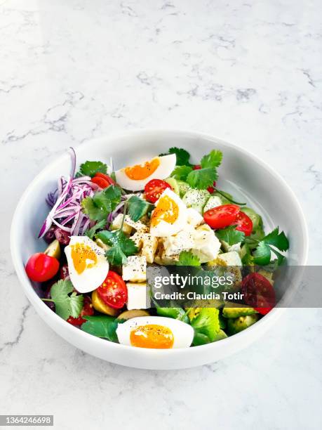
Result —
[[[158, 207], [158, 203], [162, 197], [168, 195], [171, 200], [173, 200], [177, 206], [179, 207], [179, 213], [177, 219], [174, 223], [167, 223], [166, 221], [161, 220], [156, 226], [150, 227], [150, 234], [156, 237], [168, 237], [177, 234], [182, 228], [185, 228], [187, 225], [187, 207], [184, 202], [180, 199], [180, 197], [175, 194], [170, 188], [166, 188], [163, 191], [159, 200], [156, 202], [156, 208]], [[155, 210], [155, 209], [154, 209]], [[153, 216], [154, 211], [152, 212]]]

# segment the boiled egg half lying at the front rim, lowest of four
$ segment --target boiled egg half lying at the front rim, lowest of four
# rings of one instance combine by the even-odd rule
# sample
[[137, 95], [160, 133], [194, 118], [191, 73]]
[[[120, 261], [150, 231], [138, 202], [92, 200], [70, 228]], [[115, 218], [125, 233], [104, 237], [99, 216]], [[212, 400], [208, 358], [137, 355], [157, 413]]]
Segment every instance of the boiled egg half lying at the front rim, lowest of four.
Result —
[[191, 325], [160, 316], [136, 317], [119, 324], [119, 343], [138, 348], [189, 348], [194, 339]]

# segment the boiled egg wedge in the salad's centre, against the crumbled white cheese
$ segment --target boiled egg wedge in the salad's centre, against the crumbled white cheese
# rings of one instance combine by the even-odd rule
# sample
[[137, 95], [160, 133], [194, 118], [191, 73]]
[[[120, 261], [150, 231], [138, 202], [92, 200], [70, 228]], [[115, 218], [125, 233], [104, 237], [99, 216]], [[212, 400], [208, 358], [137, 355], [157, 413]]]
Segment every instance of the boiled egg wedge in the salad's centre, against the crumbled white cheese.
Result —
[[187, 223], [187, 207], [170, 188], [163, 191], [151, 214], [150, 234], [168, 237], [178, 233]]

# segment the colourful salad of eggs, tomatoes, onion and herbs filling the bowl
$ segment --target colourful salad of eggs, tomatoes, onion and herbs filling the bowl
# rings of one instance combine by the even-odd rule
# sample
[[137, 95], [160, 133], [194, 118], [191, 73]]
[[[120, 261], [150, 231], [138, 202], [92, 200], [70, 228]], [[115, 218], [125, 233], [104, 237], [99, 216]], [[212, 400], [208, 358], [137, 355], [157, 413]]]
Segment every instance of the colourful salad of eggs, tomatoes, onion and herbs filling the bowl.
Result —
[[[120, 169], [112, 159], [76, 169], [71, 155], [70, 176], [48, 190], [39, 231], [48, 247], [25, 271], [74, 330], [133, 348], [189, 348], [246, 330], [274, 308], [288, 238], [279, 227], [265, 233], [261, 214], [217, 188], [221, 150], [193, 164], [173, 147]], [[232, 268], [243, 301], [159, 306], [150, 266]]]

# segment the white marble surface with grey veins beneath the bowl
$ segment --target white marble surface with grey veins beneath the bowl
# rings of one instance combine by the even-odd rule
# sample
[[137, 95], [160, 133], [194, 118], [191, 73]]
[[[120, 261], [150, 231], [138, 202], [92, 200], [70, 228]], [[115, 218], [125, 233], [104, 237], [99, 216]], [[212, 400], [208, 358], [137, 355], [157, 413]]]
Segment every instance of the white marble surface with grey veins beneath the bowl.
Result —
[[218, 363], [132, 370], [44, 325], [9, 253], [13, 210], [39, 169], [69, 145], [157, 126], [269, 162], [321, 264], [321, 24], [319, 0], [0, 1], [1, 414], [53, 414], [62, 430], [321, 429], [321, 309], [286, 311]]

